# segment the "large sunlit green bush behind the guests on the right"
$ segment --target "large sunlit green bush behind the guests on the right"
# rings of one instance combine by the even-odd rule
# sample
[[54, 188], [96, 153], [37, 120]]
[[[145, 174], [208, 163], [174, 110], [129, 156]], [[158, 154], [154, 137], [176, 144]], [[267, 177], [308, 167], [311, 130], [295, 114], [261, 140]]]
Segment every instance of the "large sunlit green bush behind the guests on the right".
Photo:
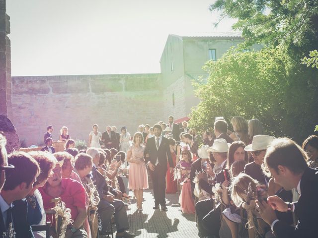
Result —
[[[208, 61], [207, 83], [193, 83], [201, 102], [192, 110], [191, 128], [203, 131], [213, 128], [215, 117], [243, 116], [259, 119], [268, 134], [306, 138], [318, 116], [318, 82], [301, 78], [306, 72], [292, 63], [284, 47], [250, 53], [231, 49], [220, 60]], [[295, 67], [297, 73], [289, 70]]]

